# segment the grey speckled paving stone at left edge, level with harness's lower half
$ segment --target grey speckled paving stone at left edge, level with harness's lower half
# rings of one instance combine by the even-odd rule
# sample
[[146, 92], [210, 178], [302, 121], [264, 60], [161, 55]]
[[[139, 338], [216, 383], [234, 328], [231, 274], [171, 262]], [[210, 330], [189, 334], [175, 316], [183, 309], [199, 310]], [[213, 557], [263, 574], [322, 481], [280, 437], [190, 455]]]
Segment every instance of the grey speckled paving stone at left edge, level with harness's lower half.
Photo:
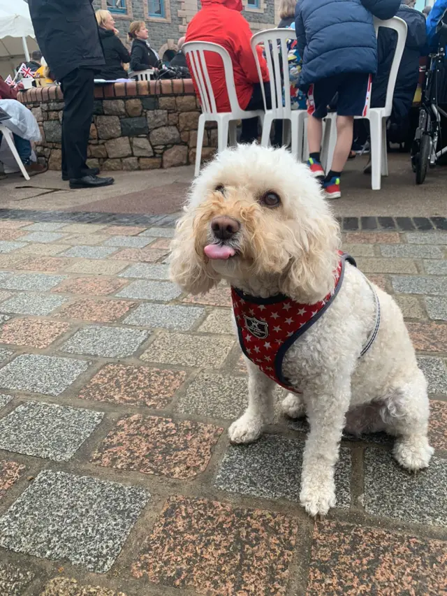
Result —
[[20, 354], [0, 369], [0, 388], [45, 395], [59, 395], [89, 362], [44, 354]]

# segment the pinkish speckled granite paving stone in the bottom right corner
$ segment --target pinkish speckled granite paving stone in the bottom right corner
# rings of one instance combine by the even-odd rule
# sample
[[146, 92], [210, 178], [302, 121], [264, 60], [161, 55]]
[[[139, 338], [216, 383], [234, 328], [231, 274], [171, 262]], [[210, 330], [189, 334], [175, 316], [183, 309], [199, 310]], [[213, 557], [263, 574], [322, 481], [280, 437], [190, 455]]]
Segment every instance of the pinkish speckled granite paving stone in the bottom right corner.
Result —
[[306, 596], [441, 596], [445, 565], [441, 540], [318, 522]]

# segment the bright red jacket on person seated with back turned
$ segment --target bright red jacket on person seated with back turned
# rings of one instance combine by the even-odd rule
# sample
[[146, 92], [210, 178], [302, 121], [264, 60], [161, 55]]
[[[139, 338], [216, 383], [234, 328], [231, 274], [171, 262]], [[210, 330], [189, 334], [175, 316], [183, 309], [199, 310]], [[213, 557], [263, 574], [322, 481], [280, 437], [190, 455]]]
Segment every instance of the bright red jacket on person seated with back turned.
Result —
[[[254, 83], [259, 82], [258, 71], [251, 51], [251, 31], [248, 22], [240, 14], [241, 0], [202, 0], [202, 9], [193, 17], [186, 30], [186, 41], [211, 41], [227, 50], [233, 62], [236, 94], [239, 105], [244, 110], [253, 94]], [[263, 80], [268, 81], [268, 71], [262, 50]], [[230, 101], [226, 92], [222, 61], [216, 54], [205, 54], [218, 112], [229, 112]], [[189, 68], [189, 71], [193, 71]], [[196, 81], [193, 84], [198, 95]]]

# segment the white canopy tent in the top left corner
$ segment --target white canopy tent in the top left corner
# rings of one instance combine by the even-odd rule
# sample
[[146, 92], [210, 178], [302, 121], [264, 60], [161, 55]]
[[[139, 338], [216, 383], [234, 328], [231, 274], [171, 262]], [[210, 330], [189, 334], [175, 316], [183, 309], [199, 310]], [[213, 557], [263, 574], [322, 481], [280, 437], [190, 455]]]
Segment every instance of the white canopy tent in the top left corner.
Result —
[[29, 60], [29, 51], [37, 49], [28, 4], [0, 0], [0, 75], [13, 74], [18, 64]]

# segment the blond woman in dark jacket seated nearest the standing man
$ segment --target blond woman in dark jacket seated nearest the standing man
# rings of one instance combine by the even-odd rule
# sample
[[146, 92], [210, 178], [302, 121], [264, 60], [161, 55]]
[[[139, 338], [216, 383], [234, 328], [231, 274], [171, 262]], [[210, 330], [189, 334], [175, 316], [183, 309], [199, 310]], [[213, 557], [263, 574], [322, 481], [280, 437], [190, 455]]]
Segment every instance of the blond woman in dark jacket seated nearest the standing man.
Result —
[[118, 37], [114, 18], [108, 10], [96, 10], [95, 15], [105, 59], [105, 66], [101, 66], [101, 72], [97, 78], [105, 80], [128, 78], [123, 64], [129, 64], [131, 54]]

